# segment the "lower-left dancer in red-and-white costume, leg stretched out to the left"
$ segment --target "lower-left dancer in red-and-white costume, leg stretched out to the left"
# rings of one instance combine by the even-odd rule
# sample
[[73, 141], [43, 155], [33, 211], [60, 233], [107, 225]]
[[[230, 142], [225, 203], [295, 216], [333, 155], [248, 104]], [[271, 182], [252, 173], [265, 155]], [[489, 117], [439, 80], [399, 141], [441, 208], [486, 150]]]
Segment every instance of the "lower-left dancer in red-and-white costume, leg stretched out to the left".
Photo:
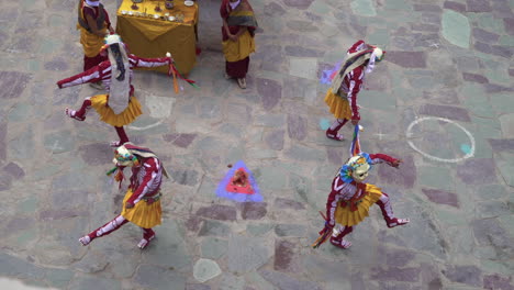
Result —
[[143, 228], [143, 239], [137, 244], [143, 249], [155, 238], [152, 227], [161, 223], [160, 183], [163, 175], [168, 177], [168, 174], [152, 150], [131, 143], [116, 148], [113, 163], [116, 168], [108, 175], [115, 171], [114, 179], [120, 182], [124, 179], [123, 169], [132, 168], [131, 185], [123, 199], [122, 212], [109, 223], [79, 238], [79, 242], [87, 246], [94, 238], [108, 235], [131, 222]]

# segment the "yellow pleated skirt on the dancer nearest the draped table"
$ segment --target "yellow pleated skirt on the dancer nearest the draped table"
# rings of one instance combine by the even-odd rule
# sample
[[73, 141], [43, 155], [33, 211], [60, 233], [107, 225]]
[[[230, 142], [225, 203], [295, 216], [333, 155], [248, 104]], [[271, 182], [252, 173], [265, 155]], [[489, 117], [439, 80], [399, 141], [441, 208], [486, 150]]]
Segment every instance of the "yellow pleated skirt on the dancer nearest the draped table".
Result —
[[112, 126], [128, 125], [143, 113], [141, 110], [141, 103], [135, 97], [131, 97], [128, 107], [126, 107], [126, 109], [119, 114], [115, 114], [112, 109], [109, 108], [108, 98], [109, 94], [97, 94], [92, 97], [91, 107], [100, 115], [100, 120]]

